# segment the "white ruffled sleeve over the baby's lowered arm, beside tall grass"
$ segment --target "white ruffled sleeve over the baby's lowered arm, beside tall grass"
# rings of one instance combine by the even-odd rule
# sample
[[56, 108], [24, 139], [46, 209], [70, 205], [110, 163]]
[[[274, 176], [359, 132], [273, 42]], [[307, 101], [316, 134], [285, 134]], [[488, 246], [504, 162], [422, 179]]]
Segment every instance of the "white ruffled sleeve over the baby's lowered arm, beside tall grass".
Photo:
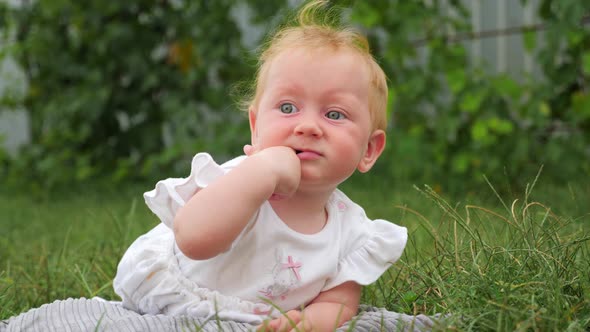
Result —
[[328, 278], [324, 291], [347, 281], [369, 285], [391, 267], [404, 251], [408, 239], [405, 227], [387, 220], [370, 220], [360, 207], [358, 209], [360, 211], [352, 214], [353, 218], [344, 221], [350, 228], [343, 239], [347, 245], [340, 257], [337, 272]]

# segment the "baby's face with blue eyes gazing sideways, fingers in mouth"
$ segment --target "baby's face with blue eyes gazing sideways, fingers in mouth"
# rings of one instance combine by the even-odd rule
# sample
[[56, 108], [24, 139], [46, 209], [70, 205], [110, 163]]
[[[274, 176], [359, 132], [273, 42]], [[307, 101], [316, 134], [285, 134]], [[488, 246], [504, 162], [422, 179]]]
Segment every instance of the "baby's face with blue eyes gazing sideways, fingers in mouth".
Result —
[[263, 93], [250, 110], [252, 145], [292, 148], [303, 186], [334, 188], [356, 169], [367, 171], [374, 132], [369, 74], [360, 56], [294, 48], [269, 65]]

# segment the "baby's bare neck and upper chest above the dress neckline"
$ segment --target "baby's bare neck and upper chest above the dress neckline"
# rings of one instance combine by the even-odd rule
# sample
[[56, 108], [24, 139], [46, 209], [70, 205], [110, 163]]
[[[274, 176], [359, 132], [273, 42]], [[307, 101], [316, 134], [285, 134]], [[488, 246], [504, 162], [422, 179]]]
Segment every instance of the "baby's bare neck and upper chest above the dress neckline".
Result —
[[326, 203], [331, 194], [296, 193], [287, 199], [271, 200], [270, 204], [289, 228], [302, 234], [315, 234], [326, 225]]

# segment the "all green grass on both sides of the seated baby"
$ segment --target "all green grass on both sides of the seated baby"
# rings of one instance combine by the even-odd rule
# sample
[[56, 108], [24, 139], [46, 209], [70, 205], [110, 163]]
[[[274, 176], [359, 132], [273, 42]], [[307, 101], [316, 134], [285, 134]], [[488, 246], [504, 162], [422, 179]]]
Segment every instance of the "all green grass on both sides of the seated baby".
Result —
[[[590, 328], [590, 184], [492, 188], [446, 198], [428, 187], [352, 181], [372, 218], [408, 227], [402, 259], [363, 302], [447, 314], [441, 330]], [[157, 220], [151, 186], [76, 190], [46, 199], [0, 193], [0, 319], [68, 297], [117, 299], [127, 246]]]

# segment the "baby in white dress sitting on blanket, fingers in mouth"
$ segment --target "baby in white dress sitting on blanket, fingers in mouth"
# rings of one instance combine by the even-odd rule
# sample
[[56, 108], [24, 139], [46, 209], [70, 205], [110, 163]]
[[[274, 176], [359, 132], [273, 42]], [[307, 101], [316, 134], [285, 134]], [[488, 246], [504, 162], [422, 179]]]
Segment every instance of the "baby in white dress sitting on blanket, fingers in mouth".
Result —
[[162, 223], [119, 264], [125, 307], [333, 330], [401, 256], [406, 229], [337, 189], [383, 152], [387, 83], [362, 35], [314, 20], [323, 5], [304, 6], [262, 53], [245, 155], [218, 165], [199, 153], [187, 178], [145, 193]]

